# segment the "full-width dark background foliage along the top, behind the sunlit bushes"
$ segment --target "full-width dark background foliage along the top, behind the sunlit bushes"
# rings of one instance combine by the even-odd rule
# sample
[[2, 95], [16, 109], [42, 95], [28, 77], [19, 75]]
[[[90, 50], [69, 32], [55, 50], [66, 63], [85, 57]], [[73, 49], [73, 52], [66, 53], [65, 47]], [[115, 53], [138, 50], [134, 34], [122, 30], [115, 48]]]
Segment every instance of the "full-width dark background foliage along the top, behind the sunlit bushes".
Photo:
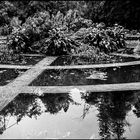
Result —
[[[64, 15], [68, 10], [78, 10], [84, 18], [94, 22], [105, 22], [107, 26], [118, 23], [129, 29], [139, 29], [139, 3], [131, 0], [123, 1], [2, 1], [0, 2], [0, 26], [10, 23], [13, 16], [20, 18], [22, 23], [35, 13], [48, 11], [50, 15], [58, 11]], [[129, 22], [128, 22], [129, 21]]]

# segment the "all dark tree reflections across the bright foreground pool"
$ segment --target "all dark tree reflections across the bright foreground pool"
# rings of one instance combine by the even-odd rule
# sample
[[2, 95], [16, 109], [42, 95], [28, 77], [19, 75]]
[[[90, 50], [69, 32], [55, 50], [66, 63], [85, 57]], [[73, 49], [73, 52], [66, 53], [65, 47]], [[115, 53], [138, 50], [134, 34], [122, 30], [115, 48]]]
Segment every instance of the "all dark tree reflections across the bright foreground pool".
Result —
[[[138, 91], [82, 93], [81, 98], [84, 103], [83, 114], [81, 114], [83, 119], [88, 116], [92, 106], [97, 108], [101, 139], [126, 139], [125, 128], [131, 127], [126, 120], [128, 113], [133, 111], [133, 115], [140, 117], [140, 92]], [[43, 112], [52, 115], [62, 110], [67, 112], [72, 104], [80, 105], [75, 102], [71, 94], [44, 94], [43, 96], [20, 94], [0, 112], [0, 134], [18, 124], [25, 116], [38, 118]], [[14, 116], [16, 122], [8, 126], [11, 116]]]

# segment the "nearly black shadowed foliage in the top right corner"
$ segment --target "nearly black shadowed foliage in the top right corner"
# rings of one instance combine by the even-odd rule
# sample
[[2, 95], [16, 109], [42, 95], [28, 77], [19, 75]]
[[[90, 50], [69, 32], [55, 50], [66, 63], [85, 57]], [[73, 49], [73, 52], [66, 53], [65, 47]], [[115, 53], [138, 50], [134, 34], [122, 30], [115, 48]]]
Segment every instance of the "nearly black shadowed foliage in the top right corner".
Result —
[[105, 1], [103, 12], [99, 17], [109, 26], [118, 23], [128, 29], [139, 29], [139, 7], [139, 3], [131, 0]]

